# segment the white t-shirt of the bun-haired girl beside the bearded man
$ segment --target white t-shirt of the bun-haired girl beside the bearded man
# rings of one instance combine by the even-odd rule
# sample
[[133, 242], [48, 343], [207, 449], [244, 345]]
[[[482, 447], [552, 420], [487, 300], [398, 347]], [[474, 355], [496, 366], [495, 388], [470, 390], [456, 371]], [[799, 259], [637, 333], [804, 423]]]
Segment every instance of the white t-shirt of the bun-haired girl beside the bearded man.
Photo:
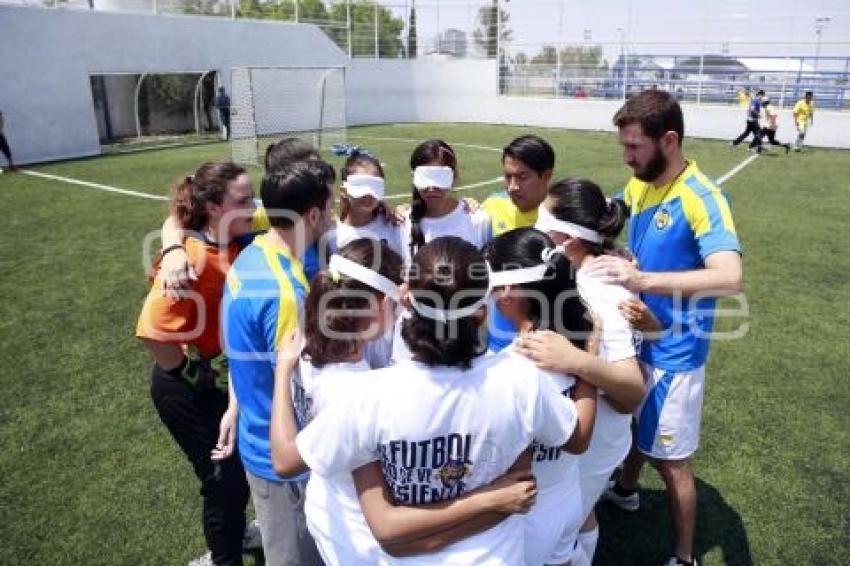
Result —
[[[579, 296], [602, 320], [599, 357], [607, 362], [633, 358], [635, 333], [617, 306], [634, 295], [621, 285], [589, 277], [584, 269], [576, 273]], [[579, 457], [582, 476], [610, 473], [626, 457], [631, 446], [631, 415], [614, 409], [600, 389], [596, 404], [596, 425], [587, 451]]]

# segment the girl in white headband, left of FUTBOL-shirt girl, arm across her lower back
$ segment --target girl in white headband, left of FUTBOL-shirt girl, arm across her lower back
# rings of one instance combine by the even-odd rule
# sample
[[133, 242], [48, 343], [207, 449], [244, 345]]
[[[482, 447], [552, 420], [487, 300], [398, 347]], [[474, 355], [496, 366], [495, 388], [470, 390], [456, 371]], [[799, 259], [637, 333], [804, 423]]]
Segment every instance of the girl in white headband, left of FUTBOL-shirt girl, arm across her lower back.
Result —
[[[306, 423], [336, 404], [347, 407], [369, 386], [374, 376], [364, 360], [365, 346], [394, 321], [401, 265], [401, 258], [385, 243], [359, 239], [331, 256], [328, 268], [317, 274], [305, 304], [303, 354], [300, 336], [293, 336], [284, 341], [278, 356], [270, 427], [276, 468], [286, 460], [284, 447], [294, 441], [296, 419]], [[364, 466], [358, 477], [357, 487], [363, 490], [383, 485], [377, 462]], [[536, 489], [528, 472], [519, 470], [464, 497], [415, 509], [394, 506], [383, 490], [377, 495], [364, 506], [382, 518], [382, 543], [396, 553], [415, 553], [453, 540], [439, 533], [447, 526], [487, 525], [505, 514], [527, 511]], [[349, 471], [314, 472], [307, 486], [305, 512], [307, 527], [326, 564], [385, 562]]]

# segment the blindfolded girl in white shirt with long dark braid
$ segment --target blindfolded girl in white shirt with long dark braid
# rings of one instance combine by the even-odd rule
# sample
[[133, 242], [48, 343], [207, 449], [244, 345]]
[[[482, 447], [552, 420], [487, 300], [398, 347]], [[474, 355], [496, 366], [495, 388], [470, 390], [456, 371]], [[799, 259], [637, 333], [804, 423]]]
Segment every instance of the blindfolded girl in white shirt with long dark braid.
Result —
[[402, 228], [405, 265], [420, 247], [440, 236], [457, 236], [480, 249], [489, 222], [452, 194], [458, 167], [451, 146], [442, 140], [419, 144], [410, 156], [410, 169], [412, 201]]

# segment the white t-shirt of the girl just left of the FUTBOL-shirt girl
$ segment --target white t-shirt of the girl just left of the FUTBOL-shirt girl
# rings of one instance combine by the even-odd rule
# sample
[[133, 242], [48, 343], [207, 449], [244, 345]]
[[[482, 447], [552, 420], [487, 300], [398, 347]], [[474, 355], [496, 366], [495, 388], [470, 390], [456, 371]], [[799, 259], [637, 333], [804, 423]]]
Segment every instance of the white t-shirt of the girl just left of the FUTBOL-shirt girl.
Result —
[[[365, 360], [322, 368], [301, 360], [298, 370], [293, 387], [303, 391], [310, 420], [329, 406], [346, 402], [370, 376]], [[329, 566], [383, 562], [384, 553], [363, 516], [351, 472], [324, 476], [314, 471], [307, 483], [304, 513], [307, 528]]]

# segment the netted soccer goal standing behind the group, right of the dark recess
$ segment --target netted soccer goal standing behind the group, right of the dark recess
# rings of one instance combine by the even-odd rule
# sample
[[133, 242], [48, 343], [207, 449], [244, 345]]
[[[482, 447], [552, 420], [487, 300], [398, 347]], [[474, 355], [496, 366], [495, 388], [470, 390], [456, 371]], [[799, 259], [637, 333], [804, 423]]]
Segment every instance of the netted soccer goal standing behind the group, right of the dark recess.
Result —
[[231, 153], [262, 164], [269, 143], [346, 142], [345, 67], [237, 67], [231, 74]]

